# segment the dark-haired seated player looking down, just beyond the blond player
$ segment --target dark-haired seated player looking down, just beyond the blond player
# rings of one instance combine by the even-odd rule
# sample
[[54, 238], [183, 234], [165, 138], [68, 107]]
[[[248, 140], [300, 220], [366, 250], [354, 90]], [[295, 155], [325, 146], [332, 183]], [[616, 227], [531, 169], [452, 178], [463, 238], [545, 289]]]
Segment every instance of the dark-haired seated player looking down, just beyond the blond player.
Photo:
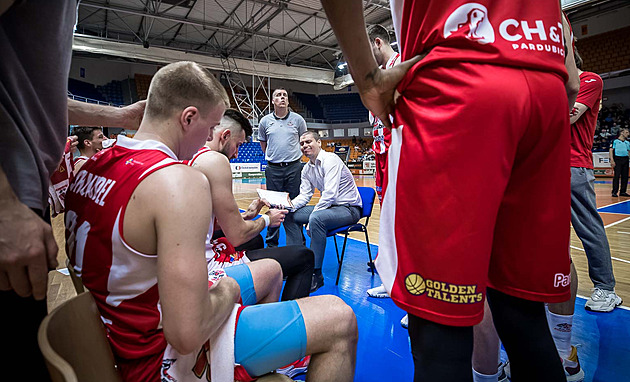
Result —
[[[244, 257], [248, 260], [274, 259], [280, 263], [286, 277], [283, 301], [307, 297], [313, 275], [313, 251], [303, 245], [262, 248], [264, 242], [260, 232], [265, 227], [280, 226], [287, 211], [270, 209], [261, 219], [253, 220], [264, 203], [256, 199], [247, 211], [240, 213], [234, 199], [229, 159], [238, 156], [239, 146], [247, 142], [251, 134], [252, 126], [247, 118], [237, 110], [227, 109], [221, 123], [215, 127], [212, 139], [188, 162], [206, 175], [212, 189], [216, 221], [214, 232], [209, 232], [206, 239], [206, 254], [218, 252], [210, 248], [212, 240], [227, 237], [236, 251], [245, 251]], [[242, 255], [238, 254], [238, 257]]]

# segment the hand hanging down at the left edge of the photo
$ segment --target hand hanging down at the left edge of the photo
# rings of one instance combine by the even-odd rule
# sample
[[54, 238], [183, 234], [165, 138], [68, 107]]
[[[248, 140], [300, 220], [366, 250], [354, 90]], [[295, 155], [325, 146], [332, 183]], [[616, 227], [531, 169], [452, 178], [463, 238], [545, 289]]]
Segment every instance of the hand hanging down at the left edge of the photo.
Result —
[[52, 228], [17, 199], [1, 198], [0, 211], [0, 290], [42, 300], [57, 267]]

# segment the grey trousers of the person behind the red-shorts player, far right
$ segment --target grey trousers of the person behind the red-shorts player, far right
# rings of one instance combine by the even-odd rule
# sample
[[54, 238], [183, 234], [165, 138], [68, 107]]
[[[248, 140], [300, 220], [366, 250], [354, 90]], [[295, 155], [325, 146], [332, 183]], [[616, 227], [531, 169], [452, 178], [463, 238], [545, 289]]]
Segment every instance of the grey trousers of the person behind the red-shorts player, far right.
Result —
[[595, 201], [593, 170], [571, 167], [571, 224], [582, 241], [588, 275], [596, 288], [615, 289], [610, 246]]

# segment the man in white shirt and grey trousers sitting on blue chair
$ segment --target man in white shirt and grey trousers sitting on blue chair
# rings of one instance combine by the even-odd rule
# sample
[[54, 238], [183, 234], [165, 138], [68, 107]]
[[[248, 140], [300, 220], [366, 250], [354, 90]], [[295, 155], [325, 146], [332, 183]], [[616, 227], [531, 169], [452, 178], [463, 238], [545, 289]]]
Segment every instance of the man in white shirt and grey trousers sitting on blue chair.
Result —
[[[322, 141], [316, 132], [302, 134], [300, 148], [309, 161], [302, 170], [300, 194], [291, 201], [296, 211], [293, 216], [287, 216], [285, 227], [295, 225], [295, 229], [301, 230], [306, 224], [315, 253], [312, 293], [324, 285], [322, 263], [326, 233], [359, 221], [362, 202], [352, 173], [337, 155], [322, 150]], [[307, 206], [316, 188], [321, 197], [316, 205]]]

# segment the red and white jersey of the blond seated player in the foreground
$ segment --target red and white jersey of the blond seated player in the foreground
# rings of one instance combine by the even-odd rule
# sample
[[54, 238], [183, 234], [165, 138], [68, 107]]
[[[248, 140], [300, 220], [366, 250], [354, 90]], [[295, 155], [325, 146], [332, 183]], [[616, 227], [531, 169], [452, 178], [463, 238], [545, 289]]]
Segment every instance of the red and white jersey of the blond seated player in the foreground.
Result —
[[143, 179], [179, 163], [160, 142], [121, 136], [115, 146], [85, 163], [66, 198], [70, 262], [94, 296], [114, 355], [144, 358], [147, 375], [159, 373], [167, 345], [161, 328], [157, 255], [140, 253], [125, 241], [123, 218]]

